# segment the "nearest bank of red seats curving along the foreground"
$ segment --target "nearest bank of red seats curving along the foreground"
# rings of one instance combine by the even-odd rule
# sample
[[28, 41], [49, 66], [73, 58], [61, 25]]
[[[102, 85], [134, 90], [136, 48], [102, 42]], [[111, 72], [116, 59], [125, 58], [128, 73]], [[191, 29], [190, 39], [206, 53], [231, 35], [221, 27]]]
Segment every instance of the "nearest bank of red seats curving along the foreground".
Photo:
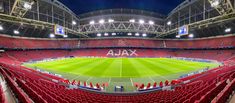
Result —
[[[149, 103], [192, 103], [212, 101], [234, 79], [235, 67], [221, 67], [203, 74], [189, 83], [178, 85], [173, 91], [152, 91], [134, 94], [106, 94], [83, 89], [70, 89], [52, 82], [45, 75], [18, 66], [2, 64], [1, 73], [11, 88], [21, 98], [36, 103], [91, 103], [91, 102], [149, 102]], [[18, 85], [18, 86], [17, 86]], [[20, 92], [23, 90], [24, 92]], [[26, 93], [26, 96], [25, 94]], [[208, 98], [210, 97], [210, 98]], [[24, 101], [28, 102], [28, 101]]]

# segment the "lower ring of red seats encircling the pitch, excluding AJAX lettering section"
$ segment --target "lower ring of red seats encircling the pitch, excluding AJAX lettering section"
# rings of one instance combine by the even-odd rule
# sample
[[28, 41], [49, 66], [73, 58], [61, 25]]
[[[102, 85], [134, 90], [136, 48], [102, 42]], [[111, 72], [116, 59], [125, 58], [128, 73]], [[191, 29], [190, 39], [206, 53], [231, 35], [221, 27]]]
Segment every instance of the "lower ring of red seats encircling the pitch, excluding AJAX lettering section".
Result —
[[[235, 66], [225, 65], [209, 70], [200, 75], [183, 78], [177, 85], [171, 85], [172, 90], [151, 91], [147, 93], [110, 94], [89, 91], [82, 88], [71, 89], [61, 82], [61, 78], [42, 74], [19, 64], [29, 60], [44, 58], [99, 55], [106, 56], [109, 50], [39, 50], [39, 51], [9, 51], [1, 54], [0, 73], [22, 103], [223, 103], [234, 91]], [[210, 58], [220, 61], [233, 61], [233, 50], [201, 51], [201, 50], [140, 50], [139, 56], [148, 56], [143, 51], [153, 53], [155, 57], [195, 57]], [[104, 52], [104, 53], [103, 53]], [[182, 53], [183, 52], [183, 53]], [[138, 53], [138, 52], [137, 52]], [[43, 56], [42, 56], [43, 55]], [[207, 57], [207, 56], [208, 57]], [[215, 56], [216, 55], [216, 56]], [[212, 56], [212, 57], [210, 57]], [[0, 92], [1, 93], [1, 92]]]

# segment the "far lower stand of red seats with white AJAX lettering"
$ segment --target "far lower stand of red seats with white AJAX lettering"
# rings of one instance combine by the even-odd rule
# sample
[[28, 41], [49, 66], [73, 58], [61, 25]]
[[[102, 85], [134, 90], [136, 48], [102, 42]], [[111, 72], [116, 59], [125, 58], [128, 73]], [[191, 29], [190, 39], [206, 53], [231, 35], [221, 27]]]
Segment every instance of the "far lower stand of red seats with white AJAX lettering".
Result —
[[[69, 57], [69, 56], [95, 56], [95, 57], [112, 57], [107, 55], [109, 50], [116, 52], [128, 49], [81, 49], [81, 50], [30, 50], [30, 51], [7, 51], [0, 53], [0, 60], [9, 64], [17, 64], [30, 60], [42, 60], [45, 58]], [[217, 61], [233, 60], [235, 50], [154, 50], [154, 49], [132, 49], [136, 50], [137, 55], [124, 57], [186, 57], [210, 59]], [[1, 56], [2, 55], [2, 56]], [[122, 57], [122, 55], [117, 56]], [[12, 61], [14, 60], [14, 61]]]

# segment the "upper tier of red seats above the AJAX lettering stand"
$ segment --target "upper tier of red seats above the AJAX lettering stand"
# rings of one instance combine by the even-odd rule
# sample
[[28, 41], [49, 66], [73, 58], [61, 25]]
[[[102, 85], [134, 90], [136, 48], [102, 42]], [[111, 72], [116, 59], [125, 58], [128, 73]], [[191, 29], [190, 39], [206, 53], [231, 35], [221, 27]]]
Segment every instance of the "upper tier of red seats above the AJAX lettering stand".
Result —
[[[142, 48], [232, 48], [235, 36], [195, 40], [153, 39], [36, 39], [0, 36], [0, 47], [4, 48], [97, 48], [97, 47], [142, 47]], [[11, 42], [9, 42], [11, 41]]]

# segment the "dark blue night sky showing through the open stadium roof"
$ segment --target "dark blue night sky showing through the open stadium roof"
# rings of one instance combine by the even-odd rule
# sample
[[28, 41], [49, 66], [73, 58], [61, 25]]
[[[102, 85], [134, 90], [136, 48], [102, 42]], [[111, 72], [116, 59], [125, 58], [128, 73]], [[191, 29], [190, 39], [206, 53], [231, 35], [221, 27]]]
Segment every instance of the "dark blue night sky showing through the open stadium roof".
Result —
[[167, 15], [184, 0], [59, 0], [77, 15], [115, 8], [140, 9]]

